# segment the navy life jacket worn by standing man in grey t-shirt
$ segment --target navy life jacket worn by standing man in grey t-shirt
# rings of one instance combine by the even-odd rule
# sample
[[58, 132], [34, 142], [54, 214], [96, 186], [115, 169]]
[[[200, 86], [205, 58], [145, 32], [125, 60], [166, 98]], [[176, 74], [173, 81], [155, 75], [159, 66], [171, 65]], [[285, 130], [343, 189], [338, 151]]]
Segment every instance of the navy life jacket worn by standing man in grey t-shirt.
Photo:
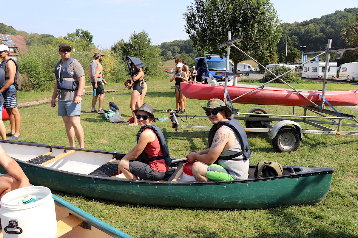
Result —
[[58, 61], [55, 67], [55, 76], [57, 79], [57, 88], [66, 90], [77, 90], [78, 79], [74, 77], [73, 72], [68, 71], [68, 66], [76, 59], [68, 58], [64, 64], [61, 64], [62, 60]]

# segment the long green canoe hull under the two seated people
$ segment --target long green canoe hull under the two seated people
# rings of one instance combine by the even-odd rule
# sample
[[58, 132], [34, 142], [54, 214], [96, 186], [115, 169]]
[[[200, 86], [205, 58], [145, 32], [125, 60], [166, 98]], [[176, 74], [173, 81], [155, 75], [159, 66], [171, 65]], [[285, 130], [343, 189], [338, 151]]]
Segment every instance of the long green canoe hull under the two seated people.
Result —
[[[239, 209], [315, 204], [326, 197], [333, 174], [333, 169], [329, 168], [293, 166], [291, 170], [295, 173], [269, 178], [215, 182], [138, 181], [78, 174], [16, 161], [32, 184], [55, 191], [118, 202], [180, 207]], [[6, 173], [2, 167], [0, 172]]]

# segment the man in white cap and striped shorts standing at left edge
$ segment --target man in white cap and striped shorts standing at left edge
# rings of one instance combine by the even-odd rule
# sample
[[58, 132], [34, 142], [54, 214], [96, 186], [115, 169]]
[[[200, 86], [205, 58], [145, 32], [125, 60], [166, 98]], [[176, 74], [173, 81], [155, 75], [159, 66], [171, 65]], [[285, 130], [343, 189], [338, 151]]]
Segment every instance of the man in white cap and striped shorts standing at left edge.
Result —
[[0, 45], [0, 57], [3, 59], [0, 67], [5, 70], [5, 86], [0, 89], [4, 96], [4, 108], [9, 113], [9, 120], [11, 131], [6, 134], [10, 136], [9, 141], [20, 139], [20, 123], [21, 117], [18, 109], [18, 102], [16, 101], [16, 80], [19, 72], [19, 65], [16, 60], [9, 57], [9, 47]]

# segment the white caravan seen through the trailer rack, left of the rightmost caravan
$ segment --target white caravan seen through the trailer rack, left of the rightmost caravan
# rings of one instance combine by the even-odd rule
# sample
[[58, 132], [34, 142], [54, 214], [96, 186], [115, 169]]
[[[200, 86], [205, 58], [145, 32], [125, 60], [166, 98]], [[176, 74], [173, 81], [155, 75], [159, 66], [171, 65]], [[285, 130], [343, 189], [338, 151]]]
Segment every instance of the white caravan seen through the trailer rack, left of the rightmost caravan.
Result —
[[[326, 67], [326, 62], [324, 61], [311, 61], [303, 65], [302, 77], [323, 79], [325, 67]], [[336, 78], [337, 78], [337, 63], [329, 62], [327, 79], [336, 79]]]

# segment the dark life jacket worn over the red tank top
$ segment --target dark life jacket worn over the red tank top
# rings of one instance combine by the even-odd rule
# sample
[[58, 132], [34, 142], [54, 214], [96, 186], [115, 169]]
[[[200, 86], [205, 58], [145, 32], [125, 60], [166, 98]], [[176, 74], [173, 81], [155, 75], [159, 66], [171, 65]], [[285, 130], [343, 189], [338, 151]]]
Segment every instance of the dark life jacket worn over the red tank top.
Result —
[[158, 160], [158, 159], [165, 159], [165, 162], [170, 165], [171, 164], [171, 158], [170, 158], [170, 155], [169, 155], [168, 147], [166, 146], [166, 142], [165, 142], [163, 132], [161, 132], [161, 130], [159, 129], [158, 126], [156, 126], [156, 125], [142, 126], [139, 129], [138, 133], [137, 133], [137, 143], [139, 141], [140, 134], [145, 130], [146, 127], [148, 127], [151, 130], [153, 130], [155, 135], [158, 137], [160, 146], [161, 146], [161, 148], [163, 150], [163, 156], [157, 156], [157, 157], [153, 157], [153, 158], [148, 158], [147, 155], [144, 152], [142, 152], [141, 155], [140, 155], [140, 158], [142, 160], [144, 160], [145, 162], [154, 161], [154, 160]]

